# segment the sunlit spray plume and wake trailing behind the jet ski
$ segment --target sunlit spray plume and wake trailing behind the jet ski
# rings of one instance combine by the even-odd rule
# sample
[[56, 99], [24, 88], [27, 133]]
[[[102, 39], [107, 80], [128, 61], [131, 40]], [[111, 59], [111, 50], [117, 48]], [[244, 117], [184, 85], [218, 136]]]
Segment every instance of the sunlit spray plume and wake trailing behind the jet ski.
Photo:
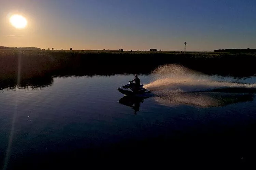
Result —
[[207, 75], [179, 65], [161, 66], [153, 74], [155, 81], [144, 87], [158, 96], [154, 97], [158, 103], [168, 106], [224, 106], [252, 101], [256, 93], [256, 84], [214, 81]]

